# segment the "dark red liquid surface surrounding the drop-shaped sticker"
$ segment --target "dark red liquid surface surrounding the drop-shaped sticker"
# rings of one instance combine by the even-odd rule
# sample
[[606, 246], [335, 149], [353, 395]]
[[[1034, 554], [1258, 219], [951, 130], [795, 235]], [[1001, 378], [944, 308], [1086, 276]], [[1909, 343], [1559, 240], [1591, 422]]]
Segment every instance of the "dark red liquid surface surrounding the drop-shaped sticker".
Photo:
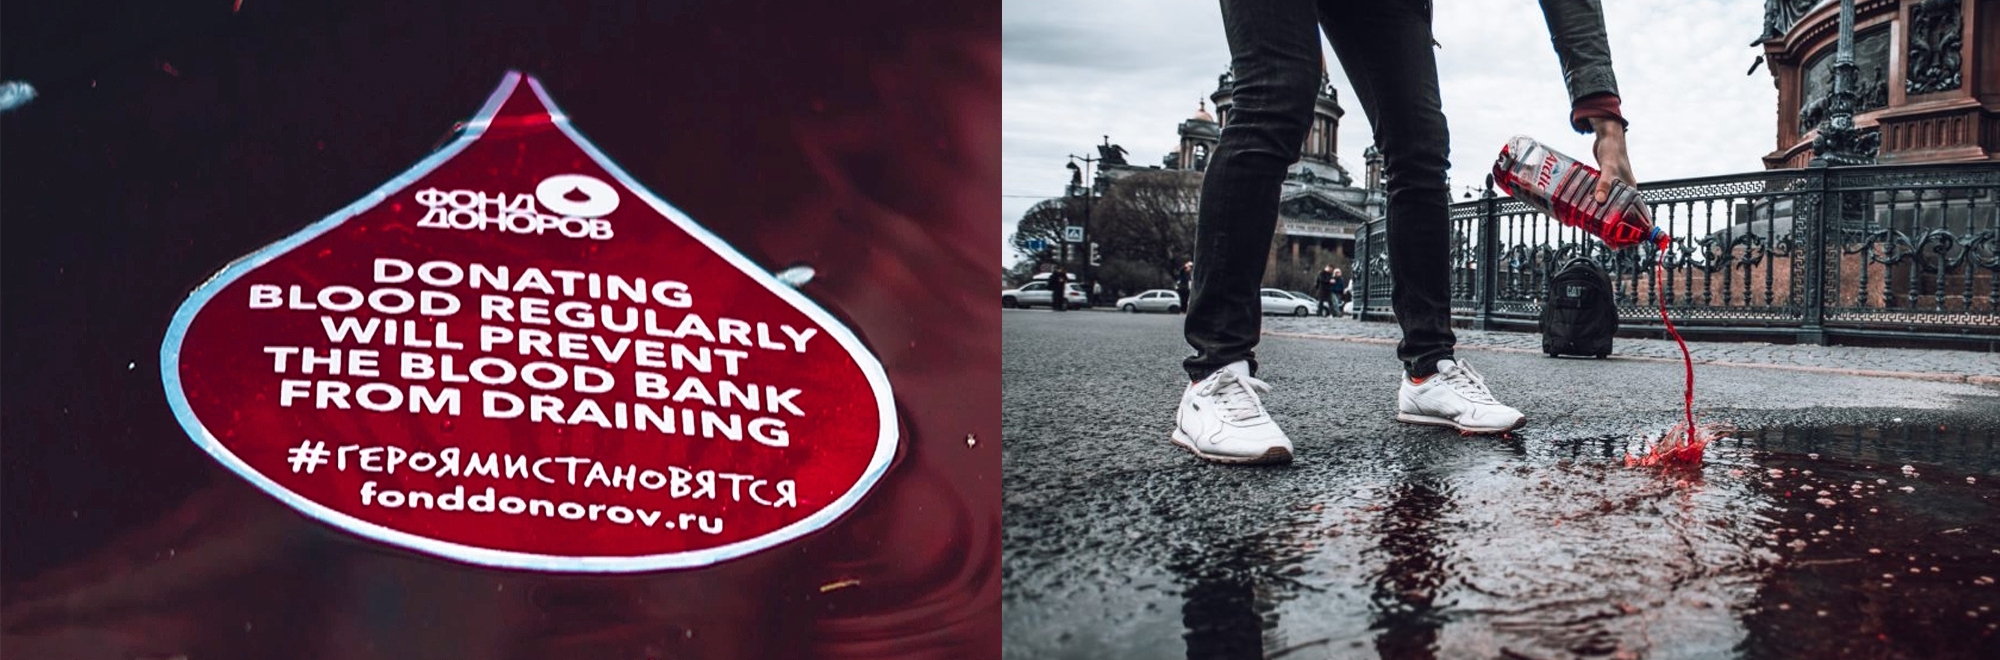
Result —
[[[998, 2], [6, 2], [0, 78], [40, 96], [0, 116], [0, 656], [998, 656]], [[706, 570], [486, 570], [316, 524], [180, 432], [180, 300], [510, 68], [750, 258], [818, 268], [904, 420], [856, 512]]]

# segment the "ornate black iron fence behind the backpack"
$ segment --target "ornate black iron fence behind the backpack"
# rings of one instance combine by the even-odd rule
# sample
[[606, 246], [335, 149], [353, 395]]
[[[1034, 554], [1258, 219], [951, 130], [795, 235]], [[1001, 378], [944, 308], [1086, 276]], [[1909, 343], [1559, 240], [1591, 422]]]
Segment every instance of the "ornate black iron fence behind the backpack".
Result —
[[[1612, 274], [1622, 326], [1780, 342], [2000, 344], [2000, 162], [1766, 170], [1650, 182], [1660, 250], [1608, 250], [1512, 198], [1452, 206], [1452, 316], [1534, 328], [1572, 258]], [[1386, 224], [1356, 242], [1356, 306], [1388, 320]]]

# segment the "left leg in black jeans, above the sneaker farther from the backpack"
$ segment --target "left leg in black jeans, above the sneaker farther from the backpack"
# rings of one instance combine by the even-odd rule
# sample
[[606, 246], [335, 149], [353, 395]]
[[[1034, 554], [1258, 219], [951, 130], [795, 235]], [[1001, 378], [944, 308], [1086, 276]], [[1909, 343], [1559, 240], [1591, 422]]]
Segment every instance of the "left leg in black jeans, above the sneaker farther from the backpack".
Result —
[[1190, 380], [1232, 362], [1256, 370], [1258, 284], [1278, 226], [1278, 190], [1304, 148], [1320, 84], [1316, 16], [1312, 0], [1222, 0], [1236, 88], [1202, 176], [1186, 318], [1196, 354], [1182, 362]]

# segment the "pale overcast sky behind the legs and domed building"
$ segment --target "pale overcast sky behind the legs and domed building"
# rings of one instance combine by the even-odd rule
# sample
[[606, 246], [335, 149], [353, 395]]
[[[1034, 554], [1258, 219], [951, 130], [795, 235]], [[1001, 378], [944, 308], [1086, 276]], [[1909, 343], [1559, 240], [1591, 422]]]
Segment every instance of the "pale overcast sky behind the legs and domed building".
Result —
[[[1394, 0], [1362, 0], [1394, 2]], [[1178, 146], [1180, 120], [1230, 62], [1216, 0], [1004, 0], [1002, 264], [1034, 202], [1062, 194], [1070, 154], [1110, 136], [1134, 164]], [[1776, 100], [1762, 54], [1764, 0], [1608, 0], [1606, 28], [1640, 182], [1760, 170], [1776, 148]], [[1436, 0], [1438, 76], [1452, 130], [1454, 198], [1478, 186], [1500, 144], [1536, 136], [1578, 158], [1562, 66], [1536, 0]], [[1330, 48], [1340, 164], [1362, 178], [1372, 144]], [[1210, 108], [1212, 110], [1212, 108]]]

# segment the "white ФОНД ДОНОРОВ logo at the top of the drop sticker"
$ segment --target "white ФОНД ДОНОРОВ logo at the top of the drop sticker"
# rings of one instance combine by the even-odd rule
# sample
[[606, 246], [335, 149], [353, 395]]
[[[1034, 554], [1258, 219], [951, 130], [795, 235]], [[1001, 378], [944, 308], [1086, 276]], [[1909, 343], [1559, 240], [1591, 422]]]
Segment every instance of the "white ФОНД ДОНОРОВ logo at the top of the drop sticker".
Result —
[[618, 210], [618, 190], [588, 174], [544, 178], [532, 196], [424, 188], [414, 200], [428, 208], [416, 222], [418, 228], [536, 236], [556, 232], [590, 240], [612, 238], [612, 222], [604, 216]]

